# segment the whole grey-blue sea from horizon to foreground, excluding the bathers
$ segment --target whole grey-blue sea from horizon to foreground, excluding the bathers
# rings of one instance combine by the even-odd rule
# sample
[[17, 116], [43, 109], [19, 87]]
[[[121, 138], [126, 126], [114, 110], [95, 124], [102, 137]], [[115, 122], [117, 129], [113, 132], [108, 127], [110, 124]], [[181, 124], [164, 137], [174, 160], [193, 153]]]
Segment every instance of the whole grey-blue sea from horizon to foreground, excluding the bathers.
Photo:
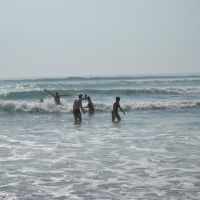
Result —
[[[96, 112], [75, 124], [80, 93]], [[0, 200], [198, 200], [199, 120], [200, 76], [1, 80]]]

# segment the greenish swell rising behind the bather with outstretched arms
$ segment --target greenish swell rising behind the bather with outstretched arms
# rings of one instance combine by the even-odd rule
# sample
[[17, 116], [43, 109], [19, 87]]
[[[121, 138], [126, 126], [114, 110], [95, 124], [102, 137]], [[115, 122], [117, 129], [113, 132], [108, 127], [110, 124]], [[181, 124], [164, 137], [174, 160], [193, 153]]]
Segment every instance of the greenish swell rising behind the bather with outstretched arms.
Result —
[[[184, 95], [184, 94], [200, 94], [200, 88], [115, 88], [115, 89], [74, 89], [74, 90], [57, 90], [59, 94], [68, 94], [69, 96], [77, 96], [77, 94], [99, 94], [99, 95]], [[51, 90], [51, 92], [55, 92]], [[0, 99], [4, 100], [25, 100], [47, 98], [47, 94], [43, 90], [19, 91], [19, 92], [0, 92]]]

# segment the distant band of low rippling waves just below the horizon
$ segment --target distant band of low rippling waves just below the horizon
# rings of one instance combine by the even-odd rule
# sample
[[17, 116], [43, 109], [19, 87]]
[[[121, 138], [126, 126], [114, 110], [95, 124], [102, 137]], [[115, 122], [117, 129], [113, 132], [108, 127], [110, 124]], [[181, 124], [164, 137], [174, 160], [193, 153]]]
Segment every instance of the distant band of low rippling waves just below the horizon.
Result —
[[[110, 87], [111, 85], [115, 88], [121, 86], [144, 86], [151, 85], [154, 87], [155, 84], [165, 86], [191, 86], [200, 84], [199, 75], [190, 76], [104, 76], [104, 77], [60, 77], [60, 78], [27, 78], [27, 79], [14, 79], [14, 80], [0, 80], [1, 88], [8, 89], [16, 88], [47, 88], [47, 89], [66, 89], [74, 88], [76, 86], [85, 86], [85, 88], [99, 88], [99, 86]], [[0, 88], [0, 90], [1, 90]]]

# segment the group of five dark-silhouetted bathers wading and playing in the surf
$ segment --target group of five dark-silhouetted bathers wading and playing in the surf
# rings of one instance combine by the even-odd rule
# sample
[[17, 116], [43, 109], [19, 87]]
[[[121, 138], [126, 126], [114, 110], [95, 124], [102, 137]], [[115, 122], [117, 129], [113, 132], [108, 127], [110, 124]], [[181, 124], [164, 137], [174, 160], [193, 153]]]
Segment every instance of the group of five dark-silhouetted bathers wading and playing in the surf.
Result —
[[[62, 96], [69, 96], [69, 94], [58, 94], [58, 92], [52, 93], [46, 89], [45, 89], [45, 91], [54, 98], [54, 102], [56, 105], [61, 104], [60, 98]], [[87, 106], [85, 106], [85, 107], [82, 106], [82, 100], [88, 100]], [[43, 99], [41, 99], [40, 102], [43, 102]], [[121, 121], [121, 117], [118, 112], [119, 110], [122, 111], [123, 114], [125, 115], [125, 112], [121, 108], [119, 102], [120, 102], [120, 97], [116, 97], [116, 101], [113, 103], [113, 109], [112, 109], [112, 121], [113, 122], [115, 121], [115, 119], [117, 119], [118, 121]], [[74, 115], [75, 122], [81, 123], [81, 121], [82, 121], [81, 111], [83, 113], [86, 112], [84, 110], [84, 108], [88, 108], [89, 114], [94, 114], [95, 109], [94, 109], [94, 105], [92, 103], [91, 98], [87, 95], [85, 95], [83, 97], [82, 94], [79, 94], [78, 98], [75, 99], [75, 101], [73, 103], [73, 115]]]

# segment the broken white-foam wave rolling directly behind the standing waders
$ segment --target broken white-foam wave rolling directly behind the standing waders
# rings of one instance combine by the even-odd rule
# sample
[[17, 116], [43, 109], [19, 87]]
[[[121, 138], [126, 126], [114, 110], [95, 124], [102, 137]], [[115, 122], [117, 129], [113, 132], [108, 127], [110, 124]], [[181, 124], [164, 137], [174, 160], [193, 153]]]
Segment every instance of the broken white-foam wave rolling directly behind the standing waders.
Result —
[[[112, 103], [94, 103], [96, 112], [110, 112]], [[148, 110], [182, 110], [200, 109], [200, 101], [176, 102], [135, 102], [121, 105], [126, 112]], [[0, 102], [0, 114], [30, 113], [30, 114], [66, 114], [72, 113], [72, 105], [55, 105], [52, 102]]]

